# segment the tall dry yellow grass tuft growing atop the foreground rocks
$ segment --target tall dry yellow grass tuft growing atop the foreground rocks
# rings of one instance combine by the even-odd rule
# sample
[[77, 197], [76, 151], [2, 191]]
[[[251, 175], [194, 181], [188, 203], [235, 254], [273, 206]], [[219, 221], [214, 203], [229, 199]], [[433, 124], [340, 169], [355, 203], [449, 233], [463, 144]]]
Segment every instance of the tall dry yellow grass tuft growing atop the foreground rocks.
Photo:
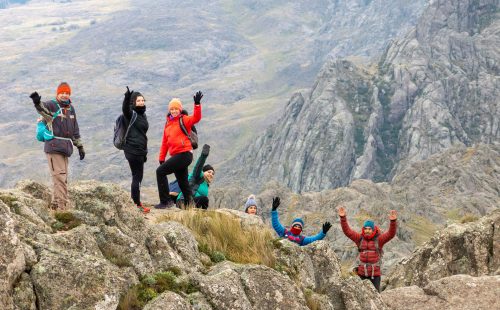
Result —
[[[211, 210], [188, 209], [162, 216], [159, 221], [176, 221], [193, 231], [200, 250], [212, 260], [221, 254], [241, 264], [263, 264], [274, 268], [273, 232], [263, 227], [241, 227], [241, 220]], [[213, 255], [212, 255], [213, 254]]]

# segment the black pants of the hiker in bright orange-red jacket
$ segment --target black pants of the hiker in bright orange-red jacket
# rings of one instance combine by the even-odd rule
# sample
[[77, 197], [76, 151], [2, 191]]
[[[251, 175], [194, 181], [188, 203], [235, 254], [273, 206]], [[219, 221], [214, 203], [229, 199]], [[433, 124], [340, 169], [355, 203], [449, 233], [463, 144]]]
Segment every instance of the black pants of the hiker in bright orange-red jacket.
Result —
[[[191, 201], [191, 187], [188, 181], [188, 167], [193, 161], [193, 153], [184, 152], [170, 157], [160, 167], [156, 169], [156, 183], [158, 184], [158, 194], [160, 203], [167, 204], [171, 201], [168, 188], [167, 175], [175, 174], [184, 198], [187, 202]], [[175, 201], [174, 201], [175, 203]]]

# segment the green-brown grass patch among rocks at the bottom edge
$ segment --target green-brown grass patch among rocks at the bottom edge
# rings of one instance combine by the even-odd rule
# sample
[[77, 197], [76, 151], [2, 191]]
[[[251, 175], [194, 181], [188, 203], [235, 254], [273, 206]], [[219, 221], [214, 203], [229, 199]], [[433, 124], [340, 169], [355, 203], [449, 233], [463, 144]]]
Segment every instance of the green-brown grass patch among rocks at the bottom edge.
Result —
[[123, 294], [117, 310], [142, 309], [165, 291], [191, 294], [197, 292], [198, 289], [190, 281], [179, 280], [173, 271], [158, 272], [143, 277], [139, 284], [132, 286]]

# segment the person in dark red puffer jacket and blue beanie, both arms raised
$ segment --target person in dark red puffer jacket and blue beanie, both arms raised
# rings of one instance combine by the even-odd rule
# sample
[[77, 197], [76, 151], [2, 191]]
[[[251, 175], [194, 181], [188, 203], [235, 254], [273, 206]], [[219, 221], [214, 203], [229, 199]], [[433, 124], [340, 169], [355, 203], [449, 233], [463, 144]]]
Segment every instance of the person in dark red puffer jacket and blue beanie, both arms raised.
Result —
[[347, 223], [346, 212], [343, 207], [338, 208], [340, 225], [344, 234], [354, 241], [359, 249], [358, 256], [358, 276], [361, 279], [369, 279], [377, 291], [380, 292], [380, 261], [382, 259], [382, 248], [389, 240], [396, 235], [397, 213], [391, 210], [389, 219], [391, 224], [389, 231], [381, 233], [378, 226], [371, 220], [365, 221], [361, 233], [352, 230]]

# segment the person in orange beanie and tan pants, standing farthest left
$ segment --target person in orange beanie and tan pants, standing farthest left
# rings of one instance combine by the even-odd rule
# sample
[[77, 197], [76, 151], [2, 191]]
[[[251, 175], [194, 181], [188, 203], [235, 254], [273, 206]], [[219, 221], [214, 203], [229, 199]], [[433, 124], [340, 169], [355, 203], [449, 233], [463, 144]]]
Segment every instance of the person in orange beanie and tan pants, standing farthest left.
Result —
[[57, 87], [55, 99], [42, 102], [42, 97], [36, 91], [30, 95], [38, 114], [54, 134], [53, 139], [45, 141], [43, 148], [52, 176], [50, 208], [53, 210], [65, 210], [68, 207], [68, 158], [73, 154], [73, 145], [78, 148], [80, 160], [85, 158], [76, 112], [70, 96], [71, 87], [66, 82], [60, 83]]

